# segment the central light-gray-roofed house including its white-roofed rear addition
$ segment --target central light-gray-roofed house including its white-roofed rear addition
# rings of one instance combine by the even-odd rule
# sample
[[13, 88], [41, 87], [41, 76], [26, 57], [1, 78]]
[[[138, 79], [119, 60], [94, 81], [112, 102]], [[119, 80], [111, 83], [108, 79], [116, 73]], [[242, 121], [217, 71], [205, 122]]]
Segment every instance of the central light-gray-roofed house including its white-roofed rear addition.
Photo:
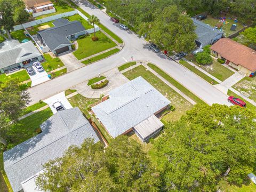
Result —
[[163, 124], [155, 115], [170, 103], [145, 79], [137, 77], [111, 90], [108, 99], [92, 110], [111, 137], [133, 130], [147, 141], [162, 129]]

